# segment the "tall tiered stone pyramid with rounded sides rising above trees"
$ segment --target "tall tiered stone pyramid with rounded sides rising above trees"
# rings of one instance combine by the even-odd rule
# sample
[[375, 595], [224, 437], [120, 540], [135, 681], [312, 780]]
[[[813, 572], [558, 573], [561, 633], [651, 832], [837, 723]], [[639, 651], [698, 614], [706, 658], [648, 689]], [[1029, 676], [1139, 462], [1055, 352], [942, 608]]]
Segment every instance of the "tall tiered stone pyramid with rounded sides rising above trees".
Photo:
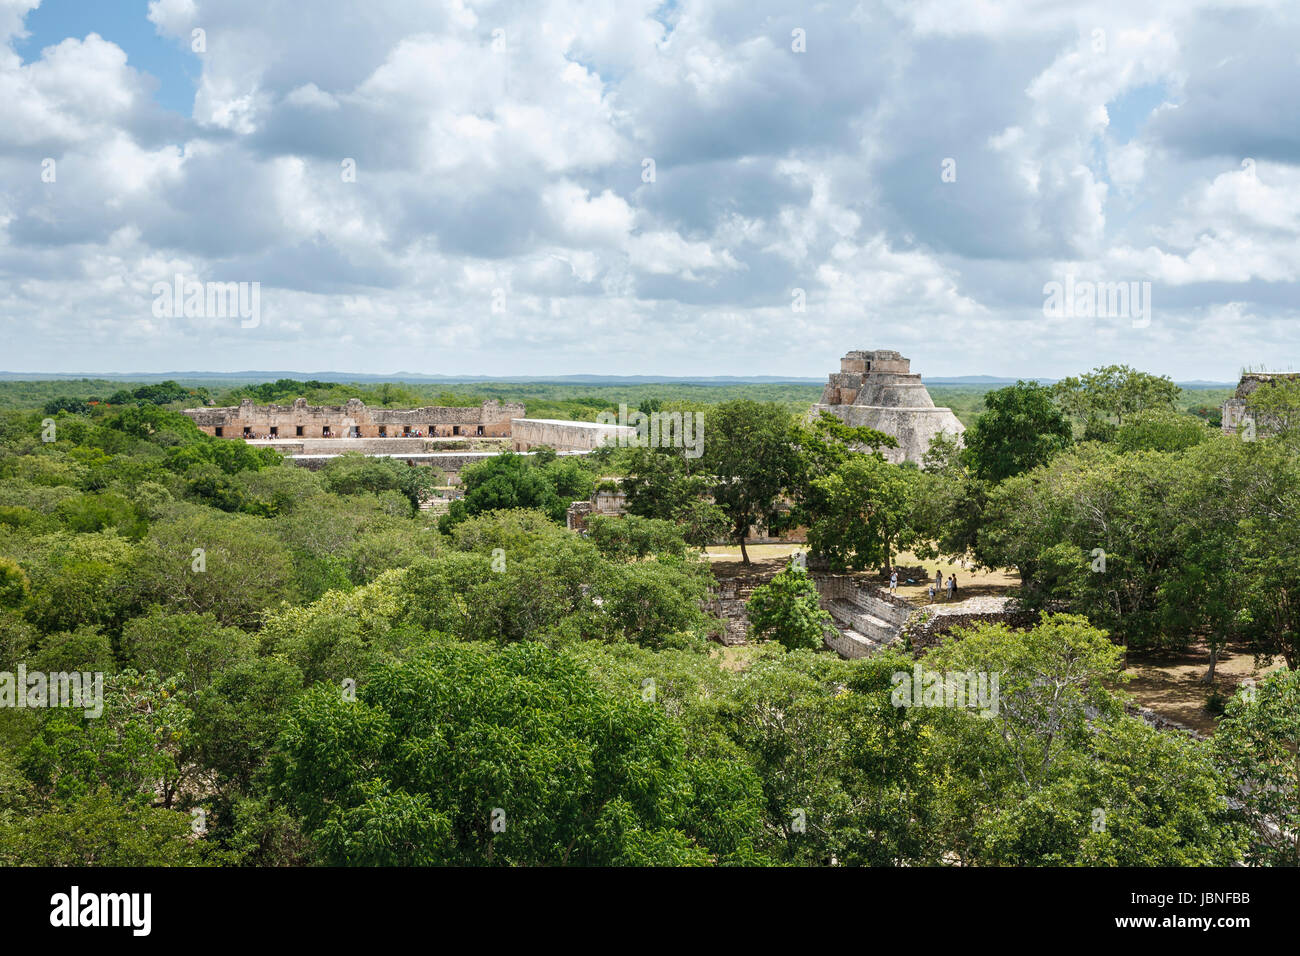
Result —
[[848, 425], [875, 428], [898, 440], [897, 449], [881, 449], [894, 464], [922, 463], [940, 432], [961, 437], [966, 427], [952, 408], [936, 407], [911, 359], [887, 349], [852, 351], [840, 359], [822, 401], [811, 415], [829, 412]]

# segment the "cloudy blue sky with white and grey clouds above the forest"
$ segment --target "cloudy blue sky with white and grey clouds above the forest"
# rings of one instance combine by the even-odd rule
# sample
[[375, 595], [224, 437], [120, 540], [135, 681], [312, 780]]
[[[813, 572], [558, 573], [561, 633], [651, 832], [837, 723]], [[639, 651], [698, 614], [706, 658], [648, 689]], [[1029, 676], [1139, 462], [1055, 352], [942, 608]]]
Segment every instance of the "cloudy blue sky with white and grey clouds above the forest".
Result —
[[1294, 0], [0, 0], [0, 371], [1300, 363]]

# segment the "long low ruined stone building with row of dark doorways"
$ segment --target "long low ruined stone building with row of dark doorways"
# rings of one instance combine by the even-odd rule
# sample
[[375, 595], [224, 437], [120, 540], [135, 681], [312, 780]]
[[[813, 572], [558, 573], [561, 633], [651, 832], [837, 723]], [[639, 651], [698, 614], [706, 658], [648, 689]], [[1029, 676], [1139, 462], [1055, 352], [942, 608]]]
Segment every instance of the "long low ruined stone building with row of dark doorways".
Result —
[[478, 406], [369, 408], [359, 398], [347, 405], [254, 405], [244, 399], [224, 408], [186, 408], [199, 431], [218, 438], [400, 438], [422, 432], [429, 437], [510, 437], [511, 419], [524, 406], [497, 401]]

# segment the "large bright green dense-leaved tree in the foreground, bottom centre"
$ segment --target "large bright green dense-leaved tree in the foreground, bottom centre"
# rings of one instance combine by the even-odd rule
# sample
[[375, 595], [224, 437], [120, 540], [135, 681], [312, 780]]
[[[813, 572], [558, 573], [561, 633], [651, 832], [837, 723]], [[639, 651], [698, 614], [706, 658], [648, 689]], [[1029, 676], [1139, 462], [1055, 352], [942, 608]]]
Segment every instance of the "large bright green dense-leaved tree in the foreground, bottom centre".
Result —
[[[309, 691], [273, 773], [334, 865], [744, 860], [759, 812], [744, 765], [688, 760], [662, 709], [536, 644], [434, 644], [355, 701]], [[745, 825], [707, 845], [696, 808], [719, 788], [745, 801]]]

